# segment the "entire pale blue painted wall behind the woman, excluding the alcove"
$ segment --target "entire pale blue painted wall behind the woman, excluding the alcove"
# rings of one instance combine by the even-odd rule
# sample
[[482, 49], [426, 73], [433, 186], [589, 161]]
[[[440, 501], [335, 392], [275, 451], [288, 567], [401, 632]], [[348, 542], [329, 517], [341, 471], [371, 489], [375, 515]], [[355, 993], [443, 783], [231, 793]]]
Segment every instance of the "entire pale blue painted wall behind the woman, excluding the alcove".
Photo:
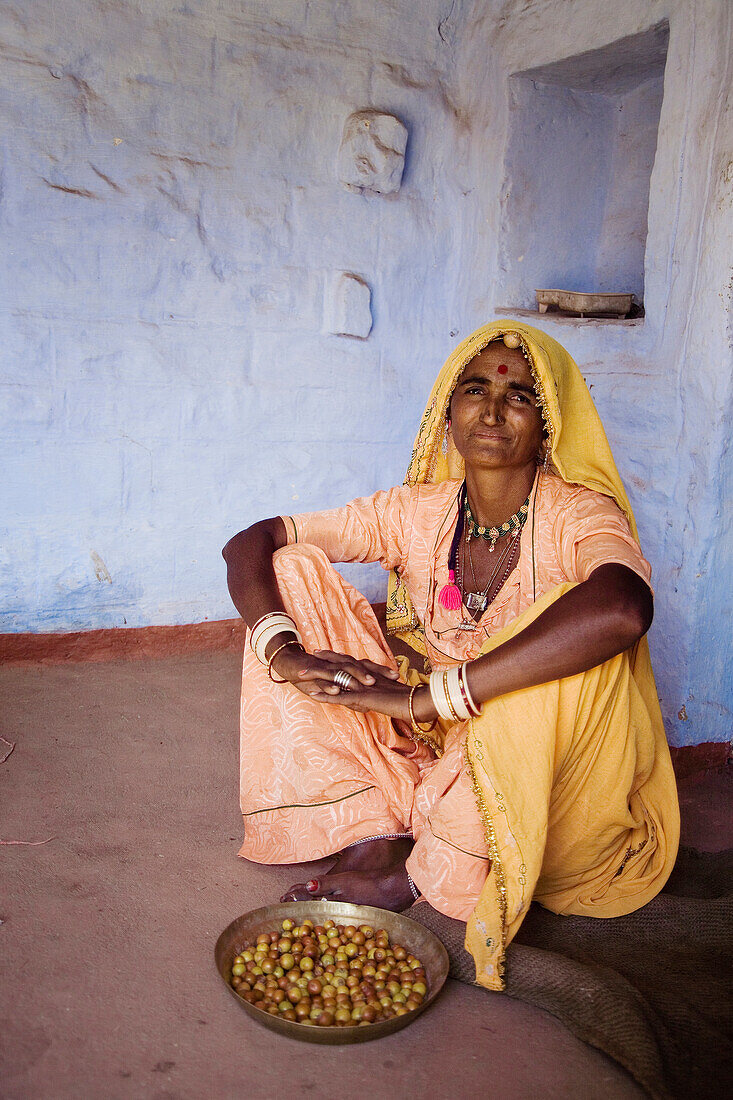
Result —
[[[0, 630], [228, 617], [234, 530], [400, 482], [445, 355], [517, 305], [510, 77], [668, 19], [646, 319], [543, 323], [593, 387], [633, 497], [670, 739], [727, 739], [732, 12], [4, 4]], [[408, 128], [396, 195], [336, 178], [362, 108]], [[532, 202], [523, 219], [527, 253], [551, 248]], [[368, 340], [322, 331], [338, 271], [372, 287]], [[380, 571], [352, 576], [382, 591]]]

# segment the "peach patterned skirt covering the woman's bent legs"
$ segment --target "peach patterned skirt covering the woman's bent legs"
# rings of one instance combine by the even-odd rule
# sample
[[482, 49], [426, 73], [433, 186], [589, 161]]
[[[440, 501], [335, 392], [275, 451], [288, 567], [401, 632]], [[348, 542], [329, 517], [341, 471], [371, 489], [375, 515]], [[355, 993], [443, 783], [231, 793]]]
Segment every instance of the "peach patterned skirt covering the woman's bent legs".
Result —
[[[322, 550], [288, 547], [274, 564], [308, 650], [333, 649], [397, 667], [366, 600]], [[404, 662], [402, 668], [406, 672]], [[383, 715], [324, 705], [289, 684], [273, 685], [249, 645], [242, 682], [240, 856], [302, 862], [368, 836], [412, 832], [413, 878], [441, 912], [467, 920], [489, 859], [460, 729], [448, 736], [439, 757]]]

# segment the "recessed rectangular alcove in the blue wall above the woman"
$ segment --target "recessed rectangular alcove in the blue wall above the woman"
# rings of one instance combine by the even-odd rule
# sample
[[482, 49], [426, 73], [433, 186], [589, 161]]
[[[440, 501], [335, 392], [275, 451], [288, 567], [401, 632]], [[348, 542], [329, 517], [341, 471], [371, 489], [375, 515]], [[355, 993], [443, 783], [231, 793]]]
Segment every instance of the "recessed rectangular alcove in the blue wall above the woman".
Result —
[[644, 300], [649, 179], [669, 26], [510, 78], [496, 301], [535, 288]]

